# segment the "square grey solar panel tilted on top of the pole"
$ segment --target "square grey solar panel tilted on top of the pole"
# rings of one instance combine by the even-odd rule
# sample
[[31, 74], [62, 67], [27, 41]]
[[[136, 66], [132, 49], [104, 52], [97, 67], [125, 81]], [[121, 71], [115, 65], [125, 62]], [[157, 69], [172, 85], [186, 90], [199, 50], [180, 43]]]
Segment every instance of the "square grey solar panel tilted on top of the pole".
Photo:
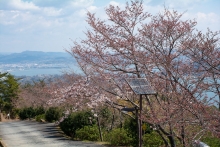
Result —
[[130, 78], [126, 79], [128, 85], [134, 91], [135, 94], [145, 94], [145, 95], [154, 95], [156, 92], [148, 83], [145, 78]]

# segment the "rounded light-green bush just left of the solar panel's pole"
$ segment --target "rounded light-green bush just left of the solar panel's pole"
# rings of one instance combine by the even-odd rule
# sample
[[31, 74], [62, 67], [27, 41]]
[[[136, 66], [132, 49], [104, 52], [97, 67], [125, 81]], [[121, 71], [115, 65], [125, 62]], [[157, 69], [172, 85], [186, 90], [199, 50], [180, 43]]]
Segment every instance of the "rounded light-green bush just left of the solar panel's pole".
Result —
[[115, 146], [128, 146], [131, 145], [132, 138], [129, 137], [128, 132], [123, 128], [113, 129], [106, 134], [106, 141]]

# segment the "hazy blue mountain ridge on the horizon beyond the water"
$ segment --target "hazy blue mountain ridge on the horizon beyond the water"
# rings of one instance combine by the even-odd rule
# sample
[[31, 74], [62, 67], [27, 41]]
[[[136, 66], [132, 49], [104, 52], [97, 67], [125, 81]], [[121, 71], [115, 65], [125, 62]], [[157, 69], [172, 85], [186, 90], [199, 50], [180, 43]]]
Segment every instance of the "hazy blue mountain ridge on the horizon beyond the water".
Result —
[[24, 51], [21, 53], [0, 54], [0, 64], [12, 63], [65, 63], [74, 62], [74, 58], [65, 52]]

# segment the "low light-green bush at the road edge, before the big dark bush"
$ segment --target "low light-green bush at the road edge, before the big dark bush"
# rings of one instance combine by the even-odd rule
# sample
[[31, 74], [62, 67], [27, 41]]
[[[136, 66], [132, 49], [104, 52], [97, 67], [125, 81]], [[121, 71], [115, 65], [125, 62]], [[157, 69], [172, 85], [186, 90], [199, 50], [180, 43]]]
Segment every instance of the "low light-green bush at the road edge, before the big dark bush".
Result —
[[80, 140], [97, 141], [99, 139], [98, 126], [84, 126], [81, 129], [76, 130], [76, 138]]

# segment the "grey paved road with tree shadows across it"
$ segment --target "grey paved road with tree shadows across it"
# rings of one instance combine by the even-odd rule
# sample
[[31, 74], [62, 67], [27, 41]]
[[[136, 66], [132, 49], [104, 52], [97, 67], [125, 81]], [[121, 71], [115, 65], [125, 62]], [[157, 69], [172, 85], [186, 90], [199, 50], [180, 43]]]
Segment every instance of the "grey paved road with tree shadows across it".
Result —
[[0, 122], [0, 138], [6, 147], [101, 147], [69, 140], [53, 123], [33, 121]]

